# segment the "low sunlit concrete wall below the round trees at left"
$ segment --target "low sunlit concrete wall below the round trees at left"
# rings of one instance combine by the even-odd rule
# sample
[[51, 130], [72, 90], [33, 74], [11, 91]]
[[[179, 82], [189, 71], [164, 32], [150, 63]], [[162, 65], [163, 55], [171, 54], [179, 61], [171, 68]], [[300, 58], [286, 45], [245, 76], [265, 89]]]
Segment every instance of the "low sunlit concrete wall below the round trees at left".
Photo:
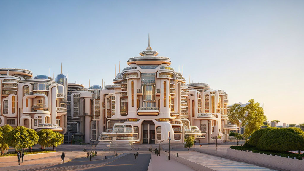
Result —
[[[55, 155], [61, 155], [62, 152], [49, 152], [49, 153], [39, 153], [39, 154], [27, 154], [24, 155], [24, 161], [26, 160], [33, 160], [39, 159], [44, 157], [51, 157]], [[20, 159], [22, 161], [22, 159]], [[16, 162], [18, 161], [17, 156], [7, 156], [7, 157], [0, 157], [0, 162]]]

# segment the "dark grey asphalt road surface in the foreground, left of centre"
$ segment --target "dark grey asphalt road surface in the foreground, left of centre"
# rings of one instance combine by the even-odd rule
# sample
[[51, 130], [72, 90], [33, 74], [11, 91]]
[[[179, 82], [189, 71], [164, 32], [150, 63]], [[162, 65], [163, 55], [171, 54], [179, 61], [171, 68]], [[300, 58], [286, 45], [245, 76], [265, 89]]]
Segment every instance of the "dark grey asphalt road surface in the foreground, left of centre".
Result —
[[37, 169], [27, 169], [31, 170], [43, 170], [43, 171], [66, 171], [66, 170], [90, 170], [90, 171], [147, 171], [150, 163], [151, 154], [139, 154], [138, 158], [135, 160], [134, 154], [122, 154], [117, 157], [112, 157], [109, 159], [98, 159], [88, 161], [88, 159], [74, 159], [70, 162], [64, 162], [52, 166], [47, 166], [44, 168]]

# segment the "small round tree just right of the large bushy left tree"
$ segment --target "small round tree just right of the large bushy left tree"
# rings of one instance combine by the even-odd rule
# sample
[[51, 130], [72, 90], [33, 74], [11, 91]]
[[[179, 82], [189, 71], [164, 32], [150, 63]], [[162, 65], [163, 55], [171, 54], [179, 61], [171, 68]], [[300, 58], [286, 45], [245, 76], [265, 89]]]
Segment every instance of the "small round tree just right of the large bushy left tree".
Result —
[[55, 138], [54, 131], [50, 129], [42, 129], [38, 131], [37, 134], [39, 136], [38, 144], [41, 145], [42, 149], [52, 146], [52, 139]]

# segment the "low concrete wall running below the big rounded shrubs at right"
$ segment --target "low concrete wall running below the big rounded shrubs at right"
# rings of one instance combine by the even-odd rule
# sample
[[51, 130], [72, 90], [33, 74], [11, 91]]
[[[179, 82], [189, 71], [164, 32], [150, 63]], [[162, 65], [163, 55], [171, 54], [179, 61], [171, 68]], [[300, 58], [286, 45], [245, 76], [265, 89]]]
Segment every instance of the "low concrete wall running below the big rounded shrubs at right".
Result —
[[227, 156], [235, 159], [292, 171], [303, 171], [304, 168], [303, 160], [279, 157], [275, 155], [244, 152], [241, 150], [227, 148]]

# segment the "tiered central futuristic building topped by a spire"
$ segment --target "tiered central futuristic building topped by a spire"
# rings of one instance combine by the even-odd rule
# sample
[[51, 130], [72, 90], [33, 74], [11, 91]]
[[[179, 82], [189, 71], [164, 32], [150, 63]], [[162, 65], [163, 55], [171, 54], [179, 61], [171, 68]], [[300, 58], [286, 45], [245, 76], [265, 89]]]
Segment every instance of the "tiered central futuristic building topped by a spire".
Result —
[[[182, 74], [170, 68], [168, 57], [157, 56], [150, 43], [139, 57], [129, 58], [112, 85], [101, 91], [98, 141], [154, 144], [183, 143], [185, 130], [200, 134], [188, 120], [188, 88]], [[184, 127], [184, 124], [187, 124]], [[117, 133], [117, 135], [116, 135]]]

